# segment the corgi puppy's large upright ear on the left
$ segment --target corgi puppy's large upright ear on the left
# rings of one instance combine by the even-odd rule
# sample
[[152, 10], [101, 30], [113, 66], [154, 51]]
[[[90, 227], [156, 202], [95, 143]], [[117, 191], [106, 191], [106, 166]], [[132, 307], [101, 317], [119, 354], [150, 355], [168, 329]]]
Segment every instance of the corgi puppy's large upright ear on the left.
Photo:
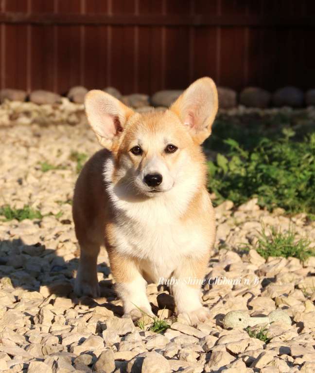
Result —
[[100, 90], [89, 91], [85, 98], [88, 123], [99, 143], [111, 149], [115, 139], [122, 133], [133, 111], [117, 98]]

